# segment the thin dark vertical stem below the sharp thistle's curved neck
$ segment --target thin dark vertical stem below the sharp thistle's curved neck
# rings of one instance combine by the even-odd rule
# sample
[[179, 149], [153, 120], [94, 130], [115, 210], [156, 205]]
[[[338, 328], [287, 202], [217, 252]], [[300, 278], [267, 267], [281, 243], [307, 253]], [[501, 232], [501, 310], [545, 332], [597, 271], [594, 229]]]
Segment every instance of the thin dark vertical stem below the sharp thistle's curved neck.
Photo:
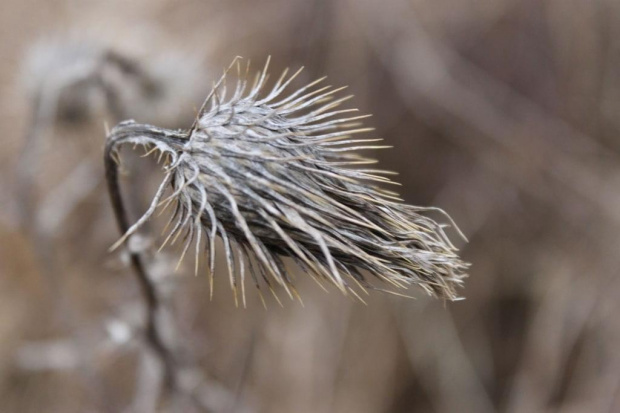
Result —
[[[116, 222], [121, 233], [125, 233], [129, 229], [129, 221], [127, 219], [127, 212], [123, 204], [123, 197], [121, 195], [118, 182], [118, 165], [111, 156], [113, 145], [113, 141], [108, 141], [105, 148], [105, 176]], [[149, 278], [146, 272], [146, 268], [142, 262], [140, 254], [130, 251], [130, 256], [131, 265], [133, 266], [134, 273], [136, 274], [138, 284], [140, 285], [140, 290], [146, 303], [147, 320], [145, 335], [147, 343], [152, 347], [163, 365], [166, 386], [169, 389], [175, 389], [177, 387], [177, 377], [174, 368], [174, 358], [171, 351], [166, 347], [162, 334], [157, 326], [157, 317], [162, 307], [162, 303], [157, 296], [157, 289], [155, 288], [153, 281]]]

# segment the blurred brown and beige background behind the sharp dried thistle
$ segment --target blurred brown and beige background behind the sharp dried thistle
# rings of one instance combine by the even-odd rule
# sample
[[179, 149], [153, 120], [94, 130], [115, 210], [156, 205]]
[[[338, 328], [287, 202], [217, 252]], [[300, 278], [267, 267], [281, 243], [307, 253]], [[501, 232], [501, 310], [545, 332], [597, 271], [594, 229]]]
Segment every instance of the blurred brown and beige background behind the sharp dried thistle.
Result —
[[[619, 2], [1, 10], [0, 411], [620, 411]], [[237, 55], [349, 85], [348, 107], [395, 147], [379, 166], [408, 203], [454, 218], [472, 267], [454, 303], [412, 289], [363, 305], [298, 274], [304, 307], [249, 292], [243, 309], [225, 274], [210, 301], [207, 277], [173, 273], [177, 252], [155, 255], [145, 231], [133, 248], [151, 254], [194, 389], [179, 398], [145, 355], [127, 253], [108, 253], [105, 125], [188, 127]], [[137, 217], [158, 177], [127, 158]]]

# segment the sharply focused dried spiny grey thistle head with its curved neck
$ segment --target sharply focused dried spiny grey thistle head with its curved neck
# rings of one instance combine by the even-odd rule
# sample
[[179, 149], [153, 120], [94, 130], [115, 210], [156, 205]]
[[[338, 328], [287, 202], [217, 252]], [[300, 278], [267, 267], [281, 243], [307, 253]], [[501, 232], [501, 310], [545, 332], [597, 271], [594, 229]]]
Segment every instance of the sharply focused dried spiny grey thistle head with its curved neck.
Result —
[[[286, 94], [285, 71], [266, 89], [269, 60], [248, 89], [239, 60], [224, 72], [188, 130], [166, 130], [127, 121], [109, 134], [108, 172], [126, 143], [166, 159], [165, 177], [144, 215], [115, 244], [134, 234], [158, 208], [172, 206], [164, 245], [184, 240], [196, 271], [203, 249], [213, 280], [214, 248], [220, 237], [230, 284], [245, 304], [246, 269], [259, 290], [280, 285], [298, 297], [282, 259], [344, 293], [391, 291], [417, 284], [433, 296], [455, 299], [465, 277], [443, 228], [421, 213], [433, 208], [406, 205], [376, 184], [393, 183], [385, 171], [359, 169], [373, 163], [354, 152], [379, 148], [377, 139], [353, 139], [370, 129], [337, 109], [348, 97], [341, 89], [319, 88], [319, 79]], [[236, 66], [238, 81], [226, 97], [226, 75]], [[301, 69], [300, 69], [301, 70]], [[208, 106], [208, 107], [207, 107]], [[113, 177], [115, 179], [115, 177]], [[169, 195], [165, 195], [166, 191]], [[193, 247], [193, 248], [192, 248]], [[182, 259], [182, 258], [181, 258]], [[262, 298], [262, 295], [261, 295]]]

